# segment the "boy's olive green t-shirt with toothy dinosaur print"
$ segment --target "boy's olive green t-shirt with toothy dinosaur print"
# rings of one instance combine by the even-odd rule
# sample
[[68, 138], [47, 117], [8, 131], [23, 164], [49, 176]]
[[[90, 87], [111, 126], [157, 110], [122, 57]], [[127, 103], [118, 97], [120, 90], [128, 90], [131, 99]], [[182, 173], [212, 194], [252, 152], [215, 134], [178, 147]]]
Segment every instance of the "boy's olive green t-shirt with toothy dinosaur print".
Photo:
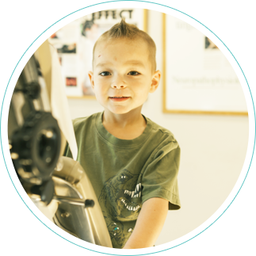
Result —
[[[118, 139], [102, 124], [103, 113], [73, 120], [78, 159], [101, 205], [113, 249], [132, 234], [144, 201], [162, 197], [169, 209], [180, 208], [180, 147], [166, 128], [144, 117], [147, 126], [136, 139]], [[67, 156], [71, 151], [67, 147]], [[154, 249], [153, 249], [154, 250]]]

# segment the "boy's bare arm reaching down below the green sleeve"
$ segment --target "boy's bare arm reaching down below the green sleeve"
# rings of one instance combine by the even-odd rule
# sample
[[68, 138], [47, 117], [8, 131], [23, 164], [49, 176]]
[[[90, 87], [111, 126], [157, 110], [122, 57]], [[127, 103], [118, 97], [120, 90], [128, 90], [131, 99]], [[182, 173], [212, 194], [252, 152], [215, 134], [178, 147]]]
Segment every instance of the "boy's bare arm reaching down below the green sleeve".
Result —
[[152, 250], [165, 223], [169, 201], [153, 197], [145, 201], [132, 235], [121, 250]]

